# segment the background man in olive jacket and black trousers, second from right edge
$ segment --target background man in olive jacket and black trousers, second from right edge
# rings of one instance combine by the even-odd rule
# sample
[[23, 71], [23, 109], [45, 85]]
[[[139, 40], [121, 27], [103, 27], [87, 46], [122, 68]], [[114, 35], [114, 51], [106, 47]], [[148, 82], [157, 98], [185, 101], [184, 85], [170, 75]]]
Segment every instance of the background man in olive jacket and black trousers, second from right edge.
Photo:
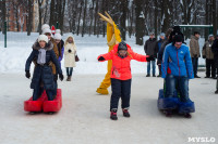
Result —
[[209, 78], [211, 74], [211, 78], [216, 79], [216, 68], [215, 68], [215, 60], [214, 60], [214, 53], [211, 51], [211, 45], [215, 38], [214, 35], [208, 36], [208, 40], [205, 42], [203, 50], [202, 50], [202, 56], [203, 58], [206, 58], [206, 77]]

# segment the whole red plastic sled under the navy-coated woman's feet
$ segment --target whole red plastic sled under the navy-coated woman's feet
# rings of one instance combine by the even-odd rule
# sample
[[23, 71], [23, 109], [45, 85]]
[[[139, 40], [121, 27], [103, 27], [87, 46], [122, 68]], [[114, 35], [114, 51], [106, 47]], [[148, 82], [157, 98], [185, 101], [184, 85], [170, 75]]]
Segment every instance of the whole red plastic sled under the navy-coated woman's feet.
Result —
[[59, 112], [62, 107], [61, 89], [57, 90], [57, 96], [53, 101], [48, 101], [46, 91], [37, 101], [33, 101], [33, 97], [24, 102], [25, 112]]

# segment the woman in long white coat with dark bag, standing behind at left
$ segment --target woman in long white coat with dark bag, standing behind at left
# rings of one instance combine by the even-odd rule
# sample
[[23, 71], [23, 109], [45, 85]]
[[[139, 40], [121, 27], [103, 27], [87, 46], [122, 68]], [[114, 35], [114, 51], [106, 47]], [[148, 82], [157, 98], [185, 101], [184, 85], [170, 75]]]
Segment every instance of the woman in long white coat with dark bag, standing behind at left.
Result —
[[66, 68], [66, 81], [71, 81], [73, 67], [75, 67], [76, 47], [73, 36], [69, 36], [64, 43], [64, 67]]

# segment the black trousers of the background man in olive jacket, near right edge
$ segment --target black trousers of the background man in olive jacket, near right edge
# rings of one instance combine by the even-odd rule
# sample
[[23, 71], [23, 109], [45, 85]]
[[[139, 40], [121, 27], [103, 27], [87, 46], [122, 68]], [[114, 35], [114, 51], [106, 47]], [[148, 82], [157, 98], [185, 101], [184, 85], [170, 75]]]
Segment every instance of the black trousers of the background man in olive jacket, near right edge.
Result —
[[215, 61], [206, 58], [206, 76], [207, 77], [216, 77], [216, 68], [215, 68]]

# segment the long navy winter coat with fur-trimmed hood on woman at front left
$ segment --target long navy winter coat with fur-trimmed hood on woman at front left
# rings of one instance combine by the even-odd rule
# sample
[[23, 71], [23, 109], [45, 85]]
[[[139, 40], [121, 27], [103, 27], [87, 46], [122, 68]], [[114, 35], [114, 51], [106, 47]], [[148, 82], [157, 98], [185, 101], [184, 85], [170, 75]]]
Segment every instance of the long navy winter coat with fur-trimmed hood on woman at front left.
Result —
[[[53, 48], [53, 45], [49, 41], [49, 43], [45, 48], [47, 50], [46, 51], [46, 64], [44, 66], [36, 64], [32, 83], [31, 83], [31, 89], [36, 89], [37, 86], [40, 84], [40, 82], [44, 83], [44, 88], [46, 90], [55, 89], [52, 68], [51, 68], [51, 66], [48, 65], [49, 62], [50, 61], [53, 62], [53, 64], [57, 67], [58, 74], [62, 74], [62, 70], [61, 70], [58, 58], [56, 57], [56, 54], [55, 54], [52, 48]], [[36, 60], [36, 62], [37, 62], [39, 49], [41, 49], [39, 43], [35, 43], [33, 47], [33, 51], [26, 61], [25, 70], [29, 70], [33, 60]]]

